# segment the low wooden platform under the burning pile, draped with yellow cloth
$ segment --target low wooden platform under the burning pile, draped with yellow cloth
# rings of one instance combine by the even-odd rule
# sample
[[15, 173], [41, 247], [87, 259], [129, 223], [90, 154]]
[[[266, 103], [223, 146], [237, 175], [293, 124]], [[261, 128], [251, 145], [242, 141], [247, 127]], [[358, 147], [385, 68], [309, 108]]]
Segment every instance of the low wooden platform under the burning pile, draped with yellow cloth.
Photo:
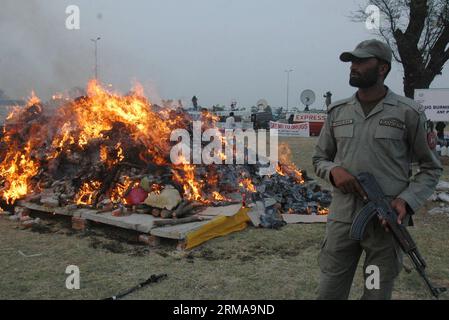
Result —
[[[117, 228], [132, 230], [140, 233], [139, 240], [150, 245], [157, 246], [163, 239], [177, 242], [177, 249], [183, 250], [186, 246], [192, 247], [192, 243], [202, 243], [216, 236], [227, 234], [227, 230], [235, 232], [243, 230], [246, 222], [251, 221], [254, 226], [260, 224], [260, 208], [245, 209], [240, 205], [225, 207], [210, 207], [198, 213], [203, 221], [189, 222], [177, 225], [156, 226], [155, 221], [167, 221], [168, 219], [156, 218], [148, 214], [133, 213], [127, 216], [115, 217], [112, 212], [98, 213], [96, 210], [86, 208], [50, 208], [31, 202], [19, 201], [18, 205], [40, 213], [50, 215], [67, 216], [72, 219], [72, 228], [84, 230], [89, 223], [100, 223]], [[283, 215], [287, 223], [325, 223], [327, 216], [308, 215]], [[210, 224], [209, 224], [210, 223]], [[224, 230], [224, 231], [223, 231]], [[202, 240], [192, 241], [197, 235]], [[198, 238], [197, 238], [198, 239]], [[189, 241], [190, 244], [187, 244]], [[195, 244], [195, 245], [197, 245]]]

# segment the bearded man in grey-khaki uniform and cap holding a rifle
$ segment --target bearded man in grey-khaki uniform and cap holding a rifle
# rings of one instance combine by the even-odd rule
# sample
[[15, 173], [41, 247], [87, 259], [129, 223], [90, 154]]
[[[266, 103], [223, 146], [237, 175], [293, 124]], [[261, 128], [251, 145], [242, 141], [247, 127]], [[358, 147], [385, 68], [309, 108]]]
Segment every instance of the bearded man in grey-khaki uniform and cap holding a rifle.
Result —
[[[352, 97], [329, 106], [328, 118], [313, 155], [316, 174], [334, 186], [326, 237], [319, 255], [319, 299], [347, 299], [361, 253], [379, 270], [379, 288], [367, 288], [362, 299], [391, 299], [394, 279], [402, 268], [402, 252], [384, 221], [372, 219], [362, 241], [349, 231], [366, 197], [355, 176], [373, 174], [400, 223], [433, 193], [442, 168], [426, 138], [426, 117], [419, 104], [384, 85], [391, 70], [392, 51], [378, 40], [360, 43], [340, 56], [351, 62]], [[411, 162], [419, 172], [410, 177]], [[371, 270], [371, 269], [370, 269]]]

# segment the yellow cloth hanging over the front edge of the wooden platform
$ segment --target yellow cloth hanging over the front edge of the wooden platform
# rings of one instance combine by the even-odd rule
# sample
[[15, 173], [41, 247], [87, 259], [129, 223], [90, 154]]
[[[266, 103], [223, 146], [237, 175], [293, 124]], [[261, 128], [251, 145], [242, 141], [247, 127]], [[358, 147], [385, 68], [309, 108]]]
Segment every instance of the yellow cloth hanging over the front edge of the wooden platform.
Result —
[[218, 216], [198, 230], [189, 232], [186, 236], [186, 249], [196, 247], [210, 239], [222, 237], [232, 232], [241, 231], [246, 228], [250, 218], [246, 214], [251, 209], [241, 208], [232, 217]]

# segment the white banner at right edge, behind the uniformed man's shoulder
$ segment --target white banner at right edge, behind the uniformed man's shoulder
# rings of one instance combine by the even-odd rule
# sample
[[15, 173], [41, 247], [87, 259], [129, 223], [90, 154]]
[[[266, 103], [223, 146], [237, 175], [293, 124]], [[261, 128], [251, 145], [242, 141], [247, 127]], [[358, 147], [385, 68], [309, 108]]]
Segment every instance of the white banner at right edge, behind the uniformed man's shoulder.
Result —
[[416, 89], [415, 101], [425, 108], [427, 119], [449, 122], [449, 89]]

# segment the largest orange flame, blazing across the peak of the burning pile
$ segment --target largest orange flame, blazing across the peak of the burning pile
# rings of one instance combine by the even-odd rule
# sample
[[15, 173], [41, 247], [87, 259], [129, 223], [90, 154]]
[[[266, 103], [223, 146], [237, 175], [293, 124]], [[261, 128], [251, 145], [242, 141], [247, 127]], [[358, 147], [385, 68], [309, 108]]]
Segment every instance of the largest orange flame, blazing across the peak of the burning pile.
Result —
[[[131, 133], [132, 139], [147, 147], [149, 155], [155, 158], [153, 161], [167, 163], [165, 157], [169, 154], [170, 133], [180, 127], [180, 117], [166, 121], [142, 96], [110, 93], [95, 80], [89, 82], [87, 92], [87, 98], [78, 99], [60, 109], [58, 118], [69, 121], [56, 135], [56, 145], [67, 141], [63, 137], [69, 136], [83, 148], [93, 139], [106, 139], [105, 132], [111, 130], [114, 124], [121, 123]], [[142, 93], [140, 89], [138, 92]], [[116, 149], [119, 148], [116, 146]], [[123, 153], [123, 150], [119, 152]]]

